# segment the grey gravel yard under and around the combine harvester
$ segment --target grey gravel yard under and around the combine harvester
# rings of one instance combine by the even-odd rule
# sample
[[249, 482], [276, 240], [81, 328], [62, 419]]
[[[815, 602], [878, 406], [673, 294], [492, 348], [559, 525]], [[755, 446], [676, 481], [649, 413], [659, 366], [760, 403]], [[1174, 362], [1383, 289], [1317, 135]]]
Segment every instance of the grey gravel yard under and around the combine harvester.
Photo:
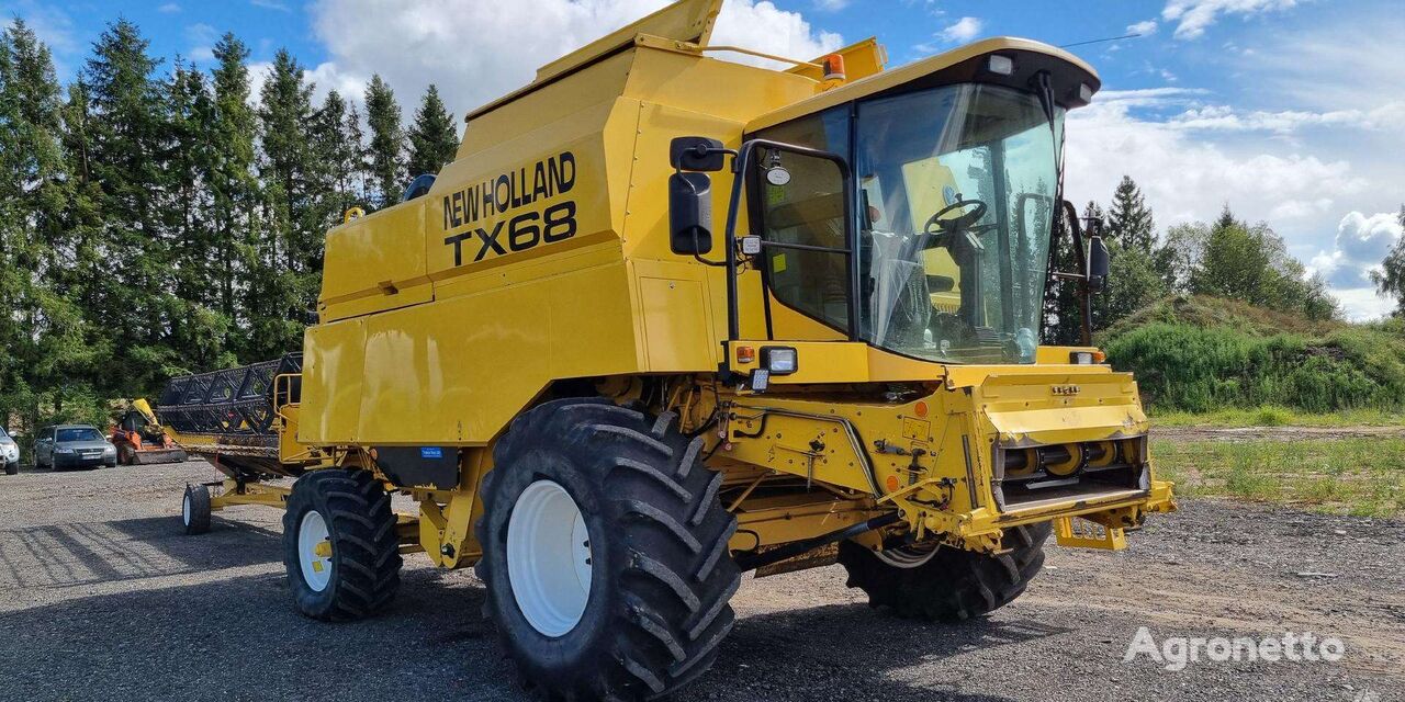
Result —
[[[200, 462], [0, 476], [0, 699], [518, 699], [482, 585], [410, 556], [392, 609], [292, 612], [280, 512], [184, 536]], [[1190, 501], [1121, 553], [1051, 546], [1013, 605], [960, 626], [865, 607], [837, 566], [747, 580], [721, 658], [679, 701], [1405, 701], [1405, 524]], [[1312, 632], [1339, 663], [1141, 656], [1172, 636]]]

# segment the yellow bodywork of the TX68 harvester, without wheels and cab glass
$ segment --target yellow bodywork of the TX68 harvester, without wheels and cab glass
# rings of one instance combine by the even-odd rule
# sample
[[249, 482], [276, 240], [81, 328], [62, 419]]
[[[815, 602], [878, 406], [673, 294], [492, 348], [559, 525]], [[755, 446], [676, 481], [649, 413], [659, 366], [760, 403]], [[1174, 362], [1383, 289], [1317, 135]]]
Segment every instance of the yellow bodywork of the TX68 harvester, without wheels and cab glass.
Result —
[[[375, 468], [377, 448], [462, 448], [455, 484], [396, 486], [420, 503], [409, 538], [445, 567], [479, 556], [471, 521], [495, 441], [561, 380], [676, 413], [683, 431], [704, 437], [724, 504], [746, 525], [735, 549], [892, 511], [919, 539], [976, 550], [998, 549], [1012, 525], [1051, 519], [1064, 519], [1061, 539], [1093, 543], [1073, 517], [1106, 526], [1100, 543], [1116, 546], [1120, 529], [1172, 508], [1145, 455], [1135, 383], [1069, 362], [1089, 350], [1040, 348], [1027, 365], [909, 358], [783, 305], [754, 268], [736, 281], [740, 341], [724, 341], [728, 274], [707, 261], [725, 256], [726, 170], [712, 174], [717, 246], [704, 261], [670, 249], [677, 136], [738, 149], [756, 129], [943, 80], [1002, 51], [1072, 66], [1096, 88], [1092, 69], [1040, 44], [988, 39], [885, 70], [881, 46], [867, 41], [839, 52], [850, 80], [836, 86], [813, 66], [767, 70], [707, 55], [718, 6], [670, 6], [548, 63], [530, 86], [469, 114], [427, 195], [327, 234], [322, 317], [305, 337], [301, 403], [285, 424], [296, 441], [285, 452], [325, 449]], [[909, 170], [920, 211], [940, 209], [936, 198], [960, 180], [936, 161]], [[743, 216], [739, 233], [749, 226]], [[960, 284], [948, 263], [929, 260], [927, 272], [951, 268]], [[946, 312], [958, 299], [932, 295]], [[759, 357], [766, 345], [794, 347], [798, 369], [757, 393], [746, 386], [757, 359], [739, 352]], [[1127, 459], [1139, 482], [1052, 500], [1016, 494], [1019, 452], [1052, 449], [1079, 468], [1093, 455]]]

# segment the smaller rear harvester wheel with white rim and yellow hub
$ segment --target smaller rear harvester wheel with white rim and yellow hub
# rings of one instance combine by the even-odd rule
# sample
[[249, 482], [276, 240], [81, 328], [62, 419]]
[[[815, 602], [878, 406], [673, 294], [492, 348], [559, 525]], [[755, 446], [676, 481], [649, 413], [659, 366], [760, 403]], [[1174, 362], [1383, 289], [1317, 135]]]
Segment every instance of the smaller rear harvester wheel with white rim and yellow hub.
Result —
[[400, 587], [400, 543], [391, 496], [371, 473], [305, 473], [287, 508], [282, 560], [299, 612], [343, 622], [391, 604]]

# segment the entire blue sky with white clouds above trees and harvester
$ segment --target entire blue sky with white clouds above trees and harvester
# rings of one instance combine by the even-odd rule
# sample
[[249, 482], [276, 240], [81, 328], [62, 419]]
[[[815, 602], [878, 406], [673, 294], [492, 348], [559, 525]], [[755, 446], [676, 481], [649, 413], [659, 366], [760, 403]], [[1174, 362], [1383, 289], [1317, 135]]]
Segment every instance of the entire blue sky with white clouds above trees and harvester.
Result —
[[[261, 72], [280, 46], [319, 91], [358, 95], [382, 73], [402, 102], [437, 83], [462, 114], [541, 63], [665, 0], [0, 0], [53, 46], [62, 79], [124, 15], [153, 53], [208, 65], [229, 29]], [[1224, 202], [1267, 222], [1325, 275], [1353, 317], [1391, 307], [1364, 275], [1401, 236], [1405, 202], [1405, 17], [1377, 0], [729, 0], [717, 42], [811, 58], [878, 37], [894, 65], [1017, 35], [1076, 46], [1104, 90], [1069, 125], [1072, 199], [1107, 201], [1123, 173], [1165, 227]], [[169, 63], [167, 63], [169, 66]], [[409, 110], [407, 110], [409, 112]]]

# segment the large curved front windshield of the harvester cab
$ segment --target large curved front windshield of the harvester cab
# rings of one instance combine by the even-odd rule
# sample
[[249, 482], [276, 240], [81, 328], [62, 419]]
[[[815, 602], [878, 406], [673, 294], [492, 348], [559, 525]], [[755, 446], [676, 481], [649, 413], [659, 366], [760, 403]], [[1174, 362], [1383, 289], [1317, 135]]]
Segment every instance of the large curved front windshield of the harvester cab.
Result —
[[877, 100], [858, 105], [857, 135], [867, 338], [933, 361], [1034, 362], [1058, 181], [1038, 98], [950, 86]]

